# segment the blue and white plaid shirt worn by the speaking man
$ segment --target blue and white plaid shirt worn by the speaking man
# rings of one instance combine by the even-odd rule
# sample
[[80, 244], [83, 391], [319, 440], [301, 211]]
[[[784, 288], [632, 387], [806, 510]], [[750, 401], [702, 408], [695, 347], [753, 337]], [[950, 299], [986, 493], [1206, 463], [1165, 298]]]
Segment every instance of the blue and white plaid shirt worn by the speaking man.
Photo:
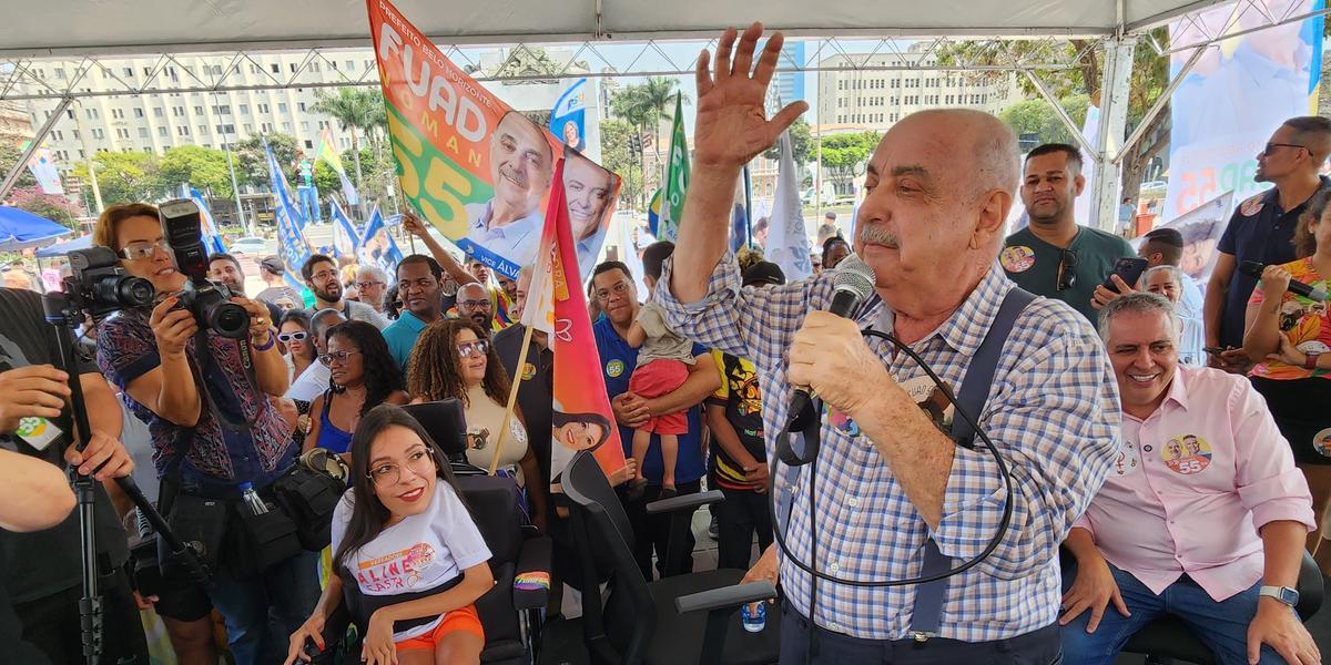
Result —
[[[663, 282], [669, 283], [667, 262]], [[912, 344], [957, 391], [969, 358], [989, 331], [1014, 285], [994, 265], [961, 307]], [[712, 273], [708, 294], [683, 305], [669, 289], [656, 301], [681, 335], [757, 364], [764, 396], [768, 459], [785, 420], [793, 388], [785, 380], [791, 338], [809, 310], [832, 302], [832, 274], [761, 290], [741, 289], [739, 266], [727, 255]], [[856, 313], [861, 327], [892, 330], [892, 311], [874, 295]], [[866, 338], [902, 384], [924, 376], [892, 344]], [[928, 380], [928, 379], [925, 379]], [[824, 418], [819, 477], [817, 567], [852, 580], [901, 580], [920, 575], [930, 535], [873, 443], [844, 422]], [[989, 641], [1054, 622], [1059, 605], [1058, 545], [1105, 480], [1118, 454], [1118, 387], [1103, 346], [1085, 317], [1067, 305], [1038, 298], [1017, 319], [994, 372], [980, 424], [1005, 456], [1016, 496], [1006, 537], [980, 565], [952, 577], [940, 637]], [[849, 430], [844, 431], [844, 430]], [[853, 432], [853, 434], [852, 434]], [[803, 493], [809, 467], [787, 476], [793, 508], [787, 544], [808, 564], [809, 505]], [[777, 483], [777, 496], [791, 492]], [[998, 529], [1006, 489], [982, 444], [958, 447], [944, 495], [942, 521], [932, 532], [953, 567], [978, 555]], [[809, 616], [811, 579], [781, 557], [781, 584], [791, 604]], [[819, 580], [817, 625], [869, 640], [908, 637], [916, 588], [858, 588]]]

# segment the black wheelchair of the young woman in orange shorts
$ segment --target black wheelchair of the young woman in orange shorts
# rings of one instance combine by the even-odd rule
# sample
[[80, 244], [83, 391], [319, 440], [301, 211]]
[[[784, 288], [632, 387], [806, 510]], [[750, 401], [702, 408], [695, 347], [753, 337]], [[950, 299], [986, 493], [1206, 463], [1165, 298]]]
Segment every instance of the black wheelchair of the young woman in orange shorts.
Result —
[[[548, 537], [524, 524], [519, 511], [518, 487], [510, 477], [459, 475], [457, 484], [463, 501], [490, 548], [490, 571], [495, 585], [476, 600], [476, 614], [486, 629], [486, 646], [480, 662], [487, 665], [526, 665], [536, 662], [540, 646], [540, 612], [550, 596]], [[359, 588], [342, 587], [343, 602], [326, 621], [325, 644], [337, 644], [333, 636], [346, 634], [349, 622], [357, 634], [365, 634], [369, 617], [354, 616], [359, 605]], [[327, 662], [358, 664], [359, 644], [347, 644], [341, 656], [330, 654]]]

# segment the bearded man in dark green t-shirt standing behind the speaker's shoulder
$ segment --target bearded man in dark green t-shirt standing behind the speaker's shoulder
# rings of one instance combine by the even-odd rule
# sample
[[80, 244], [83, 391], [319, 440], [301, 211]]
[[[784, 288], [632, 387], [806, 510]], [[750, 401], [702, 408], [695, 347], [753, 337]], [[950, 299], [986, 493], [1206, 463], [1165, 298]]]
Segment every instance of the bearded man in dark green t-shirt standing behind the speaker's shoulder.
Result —
[[1095, 286], [1114, 271], [1115, 261], [1137, 253], [1123, 238], [1073, 218], [1073, 200], [1086, 186], [1081, 165], [1081, 152], [1066, 144], [1045, 144], [1026, 156], [1021, 202], [1030, 226], [1008, 237], [998, 259], [1018, 286], [1063, 301], [1094, 323]]

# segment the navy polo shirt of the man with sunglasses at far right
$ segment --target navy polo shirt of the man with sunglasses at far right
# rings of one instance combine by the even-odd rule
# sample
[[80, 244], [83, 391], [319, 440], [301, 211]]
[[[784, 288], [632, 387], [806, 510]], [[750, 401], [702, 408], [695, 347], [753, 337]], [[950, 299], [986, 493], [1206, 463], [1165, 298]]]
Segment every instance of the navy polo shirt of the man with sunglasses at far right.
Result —
[[[1318, 192], [1331, 189], [1331, 178], [1322, 176]], [[1312, 197], [1308, 197], [1311, 201]], [[1280, 209], [1280, 192], [1271, 188], [1251, 197], [1234, 210], [1221, 235], [1218, 249], [1234, 257], [1235, 263], [1256, 261], [1262, 265], [1280, 265], [1295, 259], [1294, 230], [1308, 201], [1292, 210]], [[1221, 346], [1243, 346], [1243, 314], [1252, 295], [1256, 279], [1234, 270], [1230, 289], [1225, 293], [1225, 317], [1221, 319]]]

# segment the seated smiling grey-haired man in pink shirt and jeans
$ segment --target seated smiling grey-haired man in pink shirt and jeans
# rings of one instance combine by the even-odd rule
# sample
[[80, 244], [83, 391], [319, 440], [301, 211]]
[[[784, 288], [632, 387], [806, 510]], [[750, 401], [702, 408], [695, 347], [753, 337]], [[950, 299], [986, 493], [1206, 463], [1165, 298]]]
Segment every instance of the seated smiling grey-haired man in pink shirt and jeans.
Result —
[[1099, 313], [1122, 450], [1063, 543], [1078, 568], [1058, 620], [1065, 661], [1110, 664], [1174, 614], [1221, 664], [1318, 664], [1292, 608], [1314, 528], [1307, 483], [1247, 379], [1178, 364], [1178, 330], [1151, 293]]

